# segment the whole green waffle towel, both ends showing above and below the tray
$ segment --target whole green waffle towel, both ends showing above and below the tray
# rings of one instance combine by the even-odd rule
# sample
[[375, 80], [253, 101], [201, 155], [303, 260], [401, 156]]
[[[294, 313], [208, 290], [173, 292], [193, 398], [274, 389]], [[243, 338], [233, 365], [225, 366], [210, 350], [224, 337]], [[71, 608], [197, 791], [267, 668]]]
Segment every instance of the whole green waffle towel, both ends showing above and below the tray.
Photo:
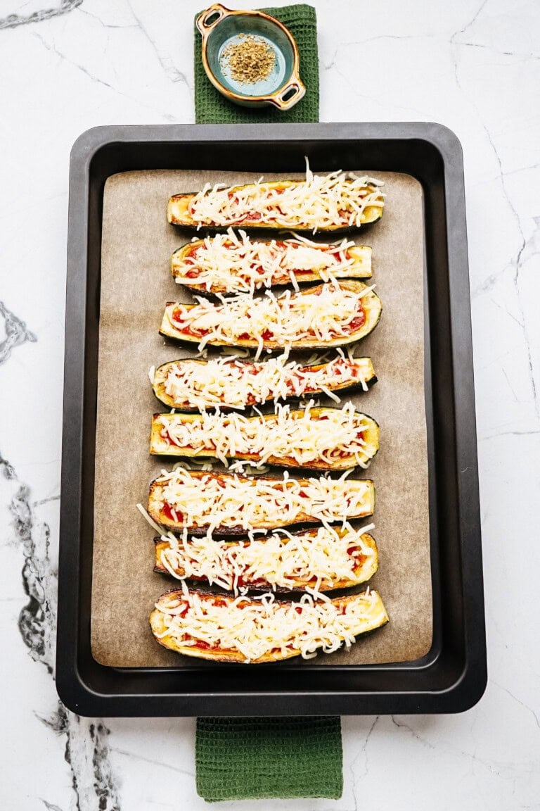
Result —
[[[195, 28], [195, 120], [198, 124], [317, 122], [319, 59], [312, 6], [265, 8], [291, 31], [300, 52], [306, 94], [292, 109], [247, 109], [227, 101], [209, 82]], [[341, 719], [199, 718], [195, 742], [197, 792], [208, 802], [264, 797], [325, 797], [343, 790]]]

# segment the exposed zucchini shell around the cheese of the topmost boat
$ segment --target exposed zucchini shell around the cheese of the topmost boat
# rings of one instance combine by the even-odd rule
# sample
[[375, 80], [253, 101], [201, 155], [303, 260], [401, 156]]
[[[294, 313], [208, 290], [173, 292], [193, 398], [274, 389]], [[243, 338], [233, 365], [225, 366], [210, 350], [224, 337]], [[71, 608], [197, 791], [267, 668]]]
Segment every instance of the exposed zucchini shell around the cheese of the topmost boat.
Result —
[[[265, 187], [270, 188], [287, 188], [291, 186], [299, 186], [305, 183], [304, 179], [300, 180], [274, 180], [264, 183]], [[244, 183], [240, 186], [233, 186], [231, 187], [230, 191], [238, 191], [240, 189], [246, 189], [249, 187], [255, 187], [255, 183]], [[225, 190], [220, 190], [225, 191]], [[172, 195], [169, 198], [168, 206], [167, 206], [167, 220], [171, 225], [181, 225], [184, 228], [195, 228], [195, 229], [203, 229], [207, 230], [210, 233], [223, 230], [223, 228], [233, 227], [233, 228], [242, 228], [245, 230], [283, 230], [283, 229], [291, 229], [291, 225], [287, 222], [280, 222], [279, 220], [275, 220], [271, 223], [258, 223], [257, 221], [253, 220], [236, 220], [231, 222], [223, 223], [222, 225], [217, 224], [206, 224], [201, 223], [199, 224], [189, 216], [187, 211], [189, 202], [193, 200], [193, 197], [198, 195], [198, 191], [185, 191], [178, 195]], [[369, 210], [372, 209], [372, 210]], [[384, 206], [369, 206], [366, 209], [367, 217], [366, 220], [361, 225], [325, 225], [322, 227], [317, 227], [318, 234], [350, 234], [352, 231], [358, 231], [360, 228], [364, 227], [364, 225], [370, 225], [372, 222], [376, 222], [381, 219], [382, 214], [384, 211]], [[315, 230], [312, 226], [304, 225], [301, 221], [294, 226], [294, 230], [297, 231], [299, 234], [312, 234]]]

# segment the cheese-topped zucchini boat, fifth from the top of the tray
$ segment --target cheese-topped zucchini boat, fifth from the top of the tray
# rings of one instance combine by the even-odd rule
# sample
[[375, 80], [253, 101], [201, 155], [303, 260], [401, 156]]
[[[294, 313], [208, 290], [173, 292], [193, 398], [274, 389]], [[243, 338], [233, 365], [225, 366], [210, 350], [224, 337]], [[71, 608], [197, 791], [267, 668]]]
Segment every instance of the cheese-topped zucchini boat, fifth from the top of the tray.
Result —
[[368, 467], [379, 449], [379, 426], [372, 417], [342, 409], [291, 411], [275, 406], [274, 414], [154, 414], [150, 453], [155, 456], [216, 457], [252, 461], [257, 466], [348, 470]]

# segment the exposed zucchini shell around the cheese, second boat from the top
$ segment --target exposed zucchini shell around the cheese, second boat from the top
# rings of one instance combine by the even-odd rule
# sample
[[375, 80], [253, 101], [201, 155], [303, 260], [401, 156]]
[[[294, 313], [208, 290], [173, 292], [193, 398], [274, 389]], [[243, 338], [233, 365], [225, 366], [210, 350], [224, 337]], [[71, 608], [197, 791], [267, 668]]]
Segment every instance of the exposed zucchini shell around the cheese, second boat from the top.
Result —
[[[262, 242], [263, 244], [269, 243], [270, 240], [265, 240]], [[292, 240], [283, 240], [287, 244], [287, 242], [292, 242]], [[259, 245], [261, 244], [261, 240], [254, 240], [252, 245]], [[204, 296], [216, 296], [216, 295], [235, 295], [235, 291], [226, 290], [223, 285], [211, 285], [208, 288], [205, 284], [193, 284], [192, 282], [194, 279], [186, 280], [185, 277], [182, 275], [180, 269], [177, 267], [177, 264], [183, 262], [185, 258], [189, 257], [191, 252], [194, 250], [198, 250], [198, 248], [204, 247], [204, 240], [198, 239], [195, 242], [186, 242], [185, 245], [177, 248], [176, 251], [172, 254], [171, 257], [171, 274], [177, 284], [181, 284], [185, 286], [187, 290], [192, 293], [198, 293]], [[322, 245], [321, 245], [322, 247]], [[368, 251], [368, 259], [363, 259], [361, 255], [355, 257], [354, 250], [361, 250], [361, 251]], [[352, 258], [354, 264], [351, 268], [348, 268], [347, 273], [338, 273], [335, 276], [338, 279], [368, 279], [372, 277], [372, 266], [371, 266], [371, 248], [366, 245], [355, 245], [351, 246], [351, 248], [347, 248], [347, 251], [353, 251]], [[346, 251], [346, 253], [347, 253]], [[316, 271], [308, 271], [308, 270], [300, 270], [294, 272], [294, 276], [296, 281], [299, 284], [307, 284], [310, 282], [321, 282], [321, 274]], [[195, 277], [196, 278], [196, 277]], [[270, 285], [261, 284], [259, 285], [256, 290], [268, 290], [270, 287], [280, 286], [280, 285], [290, 285], [291, 284], [291, 277], [287, 273], [283, 273], [283, 276], [279, 277], [277, 281], [272, 281]], [[241, 292], [241, 291], [238, 291]]]

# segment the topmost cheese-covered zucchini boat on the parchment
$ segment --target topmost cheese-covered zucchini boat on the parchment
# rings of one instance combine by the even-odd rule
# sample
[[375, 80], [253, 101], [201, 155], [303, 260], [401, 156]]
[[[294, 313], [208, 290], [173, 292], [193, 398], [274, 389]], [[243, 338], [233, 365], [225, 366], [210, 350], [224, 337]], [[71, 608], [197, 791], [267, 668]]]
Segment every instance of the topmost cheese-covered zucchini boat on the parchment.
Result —
[[357, 230], [381, 219], [385, 196], [381, 183], [347, 172], [305, 180], [275, 180], [174, 195], [167, 218], [187, 228], [265, 228], [294, 231]]

